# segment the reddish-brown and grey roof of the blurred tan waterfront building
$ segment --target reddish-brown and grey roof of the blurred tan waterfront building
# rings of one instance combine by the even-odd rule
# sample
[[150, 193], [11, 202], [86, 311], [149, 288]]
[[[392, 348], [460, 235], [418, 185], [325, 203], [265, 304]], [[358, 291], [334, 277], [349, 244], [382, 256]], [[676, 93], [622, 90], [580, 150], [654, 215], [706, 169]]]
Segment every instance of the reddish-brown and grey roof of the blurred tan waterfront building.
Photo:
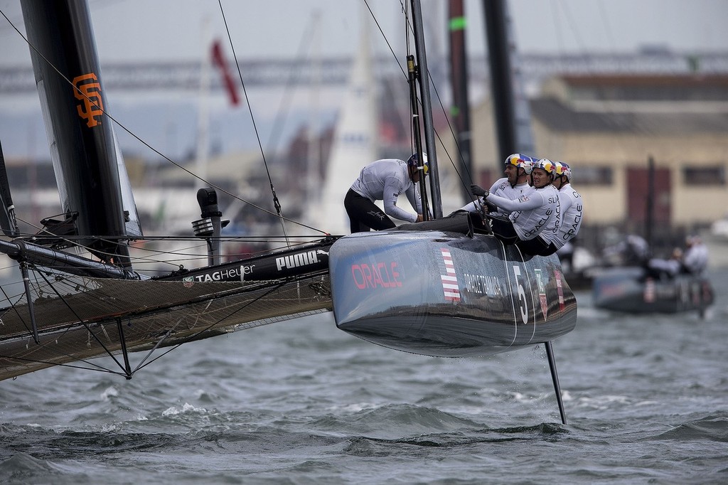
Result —
[[558, 76], [531, 100], [531, 114], [555, 131], [728, 133], [728, 76]]

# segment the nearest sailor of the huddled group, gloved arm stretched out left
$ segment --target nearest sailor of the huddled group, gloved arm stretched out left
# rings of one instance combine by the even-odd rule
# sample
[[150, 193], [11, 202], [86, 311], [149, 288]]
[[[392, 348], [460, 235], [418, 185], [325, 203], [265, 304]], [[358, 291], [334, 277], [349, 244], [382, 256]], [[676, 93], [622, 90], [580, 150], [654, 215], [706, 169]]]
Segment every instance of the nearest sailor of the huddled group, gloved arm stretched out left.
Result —
[[[551, 184], [554, 171], [553, 162], [545, 158], [540, 159], [531, 170], [534, 190], [516, 200], [491, 194], [490, 191], [475, 184], [470, 186], [473, 195], [483, 197], [486, 202], [510, 211], [508, 218], [491, 216], [491, 229], [495, 237], [504, 244], [518, 245], [521, 251], [531, 255], [547, 252], [552, 242], [550, 237], [555, 237], [553, 228], [558, 227], [561, 221], [558, 191]], [[547, 228], [551, 232], [545, 236], [547, 239], [538, 237]]]

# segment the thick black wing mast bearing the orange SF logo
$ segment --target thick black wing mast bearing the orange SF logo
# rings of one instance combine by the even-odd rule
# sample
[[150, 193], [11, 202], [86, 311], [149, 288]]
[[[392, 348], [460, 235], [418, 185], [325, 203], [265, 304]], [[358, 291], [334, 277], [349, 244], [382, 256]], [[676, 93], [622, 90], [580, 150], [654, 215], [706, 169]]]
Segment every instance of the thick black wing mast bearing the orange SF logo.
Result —
[[85, 1], [20, 2], [61, 207], [79, 243], [130, 267], [124, 237], [141, 236], [126, 167], [106, 110]]

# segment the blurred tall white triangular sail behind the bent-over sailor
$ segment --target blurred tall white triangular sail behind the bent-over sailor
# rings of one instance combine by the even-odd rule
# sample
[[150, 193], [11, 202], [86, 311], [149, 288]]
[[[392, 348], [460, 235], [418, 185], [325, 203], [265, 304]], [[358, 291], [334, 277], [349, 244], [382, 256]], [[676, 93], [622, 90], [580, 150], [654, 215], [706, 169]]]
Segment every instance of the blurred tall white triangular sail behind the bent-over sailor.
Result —
[[309, 202], [312, 225], [330, 234], [349, 234], [344, 195], [362, 167], [377, 157], [377, 103], [368, 28], [362, 25], [359, 49], [333, 134], [320, 200]]

